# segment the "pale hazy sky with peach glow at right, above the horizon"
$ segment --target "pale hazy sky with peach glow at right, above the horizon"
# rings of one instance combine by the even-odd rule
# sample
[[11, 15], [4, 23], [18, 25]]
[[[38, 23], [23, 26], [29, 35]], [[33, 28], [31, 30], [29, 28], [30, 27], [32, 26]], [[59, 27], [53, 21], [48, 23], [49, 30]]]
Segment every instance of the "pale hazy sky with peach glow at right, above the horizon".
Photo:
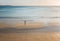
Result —
[[0, 5], [60, 5], [60, 0], [0, 0]]

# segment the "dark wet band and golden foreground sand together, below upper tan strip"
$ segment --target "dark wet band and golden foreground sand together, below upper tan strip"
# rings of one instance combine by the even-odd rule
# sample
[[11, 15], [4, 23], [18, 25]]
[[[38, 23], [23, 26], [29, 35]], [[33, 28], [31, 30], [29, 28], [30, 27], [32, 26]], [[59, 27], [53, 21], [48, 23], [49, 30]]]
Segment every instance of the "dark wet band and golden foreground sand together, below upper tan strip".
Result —
[[60, 41], [60, 27], [0, 28], [0, 41]]

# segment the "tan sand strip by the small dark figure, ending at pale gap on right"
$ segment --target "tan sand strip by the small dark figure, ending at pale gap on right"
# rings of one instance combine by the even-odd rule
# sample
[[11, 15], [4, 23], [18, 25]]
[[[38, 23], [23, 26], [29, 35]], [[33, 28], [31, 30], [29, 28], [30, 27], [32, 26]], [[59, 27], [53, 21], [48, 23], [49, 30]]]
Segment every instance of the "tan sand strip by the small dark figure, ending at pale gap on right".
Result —
[[24, 25], [24, 23], [20, 23], [20, 22], [17, 22], [17, 23], [0, 23], [0, 28], [5, 28], [5, 27], [16, 27], [16, 28], [24, 28], [24, 27], [32, 27], [32, 28], [36, 28], [36, 27], [44, 27], [45, 24], [43, 22], [34, 22], [34, 23], [27, 23], [26, 25]]

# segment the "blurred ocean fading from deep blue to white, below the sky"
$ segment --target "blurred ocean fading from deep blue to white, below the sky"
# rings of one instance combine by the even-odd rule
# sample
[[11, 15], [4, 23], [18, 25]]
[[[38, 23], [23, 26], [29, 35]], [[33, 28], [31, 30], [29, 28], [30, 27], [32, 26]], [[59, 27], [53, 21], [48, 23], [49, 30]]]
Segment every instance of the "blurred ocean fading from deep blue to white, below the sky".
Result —
[[58, 6], [0, 6], [0, 22], [60, 22]]

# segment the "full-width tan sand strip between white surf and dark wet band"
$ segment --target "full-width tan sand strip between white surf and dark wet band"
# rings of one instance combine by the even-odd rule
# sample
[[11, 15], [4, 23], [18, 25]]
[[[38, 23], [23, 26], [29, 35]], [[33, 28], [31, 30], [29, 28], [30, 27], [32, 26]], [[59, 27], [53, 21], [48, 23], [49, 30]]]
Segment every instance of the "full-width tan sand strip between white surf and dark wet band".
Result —
[[15, 23], [7, 23], [7, 22], [0, 22], [0, 28], [5, 28], [5, 27], [16, 27], [16, 28], [25, 28], [25, 27], [45, 27], [45, 26], [60, 26], [59, 22], [48, 22], [45, 24], [44, 22], [27, 22], [24, 24], [23, 22], [15, 22]]

